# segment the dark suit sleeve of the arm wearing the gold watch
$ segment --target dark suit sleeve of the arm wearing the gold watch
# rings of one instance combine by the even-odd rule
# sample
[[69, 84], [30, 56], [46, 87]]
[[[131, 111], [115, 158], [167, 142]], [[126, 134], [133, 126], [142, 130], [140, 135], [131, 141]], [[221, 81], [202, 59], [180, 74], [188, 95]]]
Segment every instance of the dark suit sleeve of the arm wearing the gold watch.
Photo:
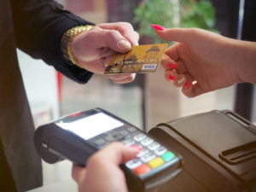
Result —
[[61, 37], [73, 26], [93, 25], [52, 0], [11, 0], [17, 47], [68, 78], [86, 83], [92, 73], [66, 61]]

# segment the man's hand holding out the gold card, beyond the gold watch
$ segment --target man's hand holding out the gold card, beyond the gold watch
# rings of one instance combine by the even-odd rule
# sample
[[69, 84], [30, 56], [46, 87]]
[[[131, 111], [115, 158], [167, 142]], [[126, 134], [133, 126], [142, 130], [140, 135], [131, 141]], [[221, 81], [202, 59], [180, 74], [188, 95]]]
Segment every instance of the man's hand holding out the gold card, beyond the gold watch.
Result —
[[[138, 44], [139, 36], [130, 23], [104, 23], [73, 38], [73, 54], [79, 64], [92, 73], [104, 73], [114, 52], [125, 53]], [[113, 74], [108, 78], [116, 84], [135, 79], [135, 74]]]

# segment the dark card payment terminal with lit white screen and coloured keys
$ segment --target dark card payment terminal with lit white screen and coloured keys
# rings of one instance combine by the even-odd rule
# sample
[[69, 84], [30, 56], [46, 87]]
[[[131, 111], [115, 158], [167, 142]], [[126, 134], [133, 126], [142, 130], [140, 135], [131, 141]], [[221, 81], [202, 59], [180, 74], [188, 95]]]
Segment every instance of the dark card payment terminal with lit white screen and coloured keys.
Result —
[[86, 160], [106, 144], [119, 141], [139, 148], [137, 158], [121, 165], [132, 191], [148, 191], [181, 172], [181, 156], [160, 141], [101, 108], [73, 113], [35, 132], [38, 154], [48, 163], [71, 160], [86, 166]]

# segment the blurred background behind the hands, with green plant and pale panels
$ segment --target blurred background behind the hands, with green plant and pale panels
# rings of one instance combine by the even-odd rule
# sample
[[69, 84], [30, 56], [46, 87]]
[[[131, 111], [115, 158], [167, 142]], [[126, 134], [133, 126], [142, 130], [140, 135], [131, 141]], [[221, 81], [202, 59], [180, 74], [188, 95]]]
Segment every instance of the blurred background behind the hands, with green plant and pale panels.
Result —
[[[140, 34], [140, 44], [158, 44], [150, 24], [165, 27], [200, 27], [226, 37], [256, 40], [255, 0], [58, 0], [59, 3], [96, 24], [131, 22]], [[173, 43], [169, 43], [173, 44]], [[26, 86], [35, 126], [62, 115], [90, 108], [104, 108], [148, 131], [155, 125], [189, 114], [230, 109], [256, 122], [256, 89], [239, 84], [187, 98], [168, 83], [163, 69], [137, 74], [130, 84], [113, 84], [95, 74], [88, 84], [77, 84], [43, 61], [33, 60], [20, 50], [20, 69]], [[44, 163], [44, 184], [71, 177], [71, 163]]]

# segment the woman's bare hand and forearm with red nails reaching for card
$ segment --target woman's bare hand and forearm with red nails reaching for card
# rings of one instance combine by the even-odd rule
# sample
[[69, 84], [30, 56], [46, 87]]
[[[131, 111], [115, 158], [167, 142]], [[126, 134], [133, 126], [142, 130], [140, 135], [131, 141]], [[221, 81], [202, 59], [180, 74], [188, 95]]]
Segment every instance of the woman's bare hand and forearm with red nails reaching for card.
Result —
[[256, 43], [196, 28], [160, 29], [156, 30], [160, 38], [177, 41], [161, 62], [165, 77], [183, 87], [185, 96], [199, 96], [236, 83], [256, 84]]

